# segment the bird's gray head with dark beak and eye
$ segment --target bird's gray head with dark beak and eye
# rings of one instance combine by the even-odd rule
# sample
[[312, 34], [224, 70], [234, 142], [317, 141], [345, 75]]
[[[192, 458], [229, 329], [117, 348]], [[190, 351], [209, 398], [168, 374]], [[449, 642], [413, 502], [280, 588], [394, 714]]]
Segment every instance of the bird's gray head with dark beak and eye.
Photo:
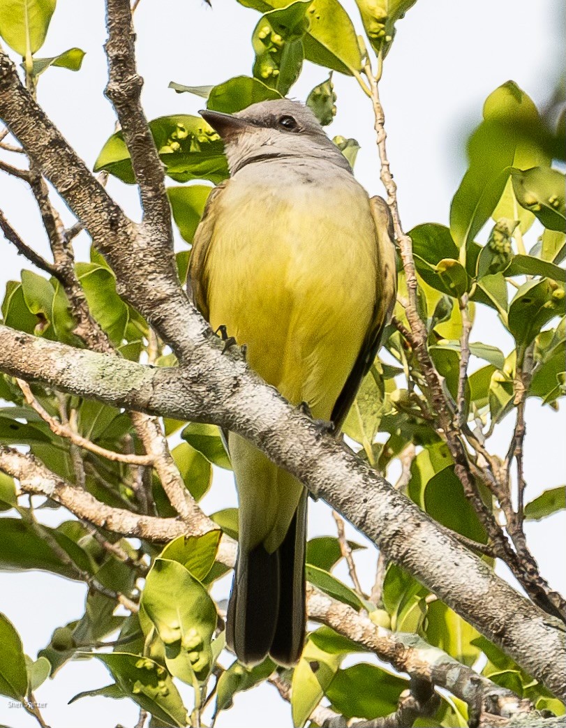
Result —
[[351, 169], [311, 109], [298, 101], [261, 101], [237, 114], [200, 113], [223, 138], [232, 175], [251, 162], [290, 157], [325, 160]]

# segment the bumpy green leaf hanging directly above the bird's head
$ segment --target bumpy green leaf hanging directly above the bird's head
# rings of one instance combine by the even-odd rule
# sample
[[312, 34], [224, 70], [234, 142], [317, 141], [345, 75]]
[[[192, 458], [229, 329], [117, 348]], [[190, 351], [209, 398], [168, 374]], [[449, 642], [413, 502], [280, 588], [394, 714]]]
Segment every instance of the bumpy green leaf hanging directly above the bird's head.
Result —
[[287, 7], [266, 12], [252, 33], [253, 74], [283, 96], [303, 67], [302, 39], [308, 28], [306, 12], [311, 1], [296, 0]]

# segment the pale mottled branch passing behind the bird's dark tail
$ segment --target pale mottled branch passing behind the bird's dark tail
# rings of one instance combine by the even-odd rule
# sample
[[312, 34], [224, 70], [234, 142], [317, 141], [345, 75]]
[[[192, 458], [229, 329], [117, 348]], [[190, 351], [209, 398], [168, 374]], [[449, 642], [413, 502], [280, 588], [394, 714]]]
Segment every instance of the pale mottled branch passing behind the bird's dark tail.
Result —
[[[199, 509], [200, 523], [194, 524], [194, 531], [183, 527], [178, 520], [135, 516], [128, 511], [109, 507], [98, 502], [86, 491], [79, 491], [70, 483], [66, 483], [63, 478], [47, 470], [47, 467], [34, 456], [24, 455], [5, 446], [0, 446], [0, 470], [17, 478], [20, 481], [20, 488], [24, 492], [49, 496], [79, 518], [94, 523], [100, 528], [129, 537], [164, 542], [179, 535], [202, 534], [218, 528], [198, 506], [196, 508]], [[57, 545], [55, 546], [57, 547]], [[112, 553], [116, 553], [114, 545], [106, 544], [105, 547], [109, 547]], [[119, 550], [117, 555], [124, 559], [124, 553], [119, 553]], [[66, 553], [64, 558], [68, 559]], [[129, 560], [127, 555], [126, 558]], [[233, 539], [223, 535], [216, 560], [234, 568], [236, 543]], [[91, 581], [92, 579], [89, 583]], [[103, 590], [103, 587], [95, 582], [92, 583], [92, 586]], [[121, 595], [108, 593], [107, 596], [119, 598]], [[124, 602], [123, 599], [119, 601], [128, 609], [135, 609], [136, 605], [131, 601]], [[395, 634], [384, 628], [378, 628], [363, 614], [358, 614], [351, 607], [340, 604], [316, 587], [308, 587], [306, 604], [308, 616], [311, 619], [323, 622], [338, 633], [375, 652], [381, 660], [389, 662], [399, 672], [409, 673], [412, 681], [435, 684], [450, 690], [457, 697], [466, 700], [471, 708], [477, 708], [479, 713], [488, 707], [490, 713], [509, 716], [517, 711], [527, 711], [532, 708], [527, 700], [519, 700], [509, 690], [500, 688], [487, 678], [478, 676], [474, 670], [466, 668], [453, 657], [426, 644], [418, 636]], [[427, 701], [420, 700], [420, 702], [426, 703]], [[403, 714], [408, 716], [409, 713]], [[327, 714], [325, 719], [328, 717]], [[399, 718], [399, 716], [397, 717]]]

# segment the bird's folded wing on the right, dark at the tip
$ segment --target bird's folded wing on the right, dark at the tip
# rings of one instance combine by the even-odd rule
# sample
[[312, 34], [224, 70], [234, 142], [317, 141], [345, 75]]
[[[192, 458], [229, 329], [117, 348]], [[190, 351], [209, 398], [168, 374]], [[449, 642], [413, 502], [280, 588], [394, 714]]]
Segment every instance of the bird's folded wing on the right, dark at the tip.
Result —
[[393, 220], [382, 197], [372, 197], [370, 208], [375, 224], [375, 244], [377, 246], [377, 276], [375, 280], [375, 306], [372, 323], [360, 349], [359, 355], [346, 379], [346, 384], [338, 395], [332, 410], [331, 420], [337, 432], [340, 431], [348, 410], [354, 402], [362, 379], [378, 353], [381, 334], [393, 312], [396, 298], [396, 253], [394, 245]]

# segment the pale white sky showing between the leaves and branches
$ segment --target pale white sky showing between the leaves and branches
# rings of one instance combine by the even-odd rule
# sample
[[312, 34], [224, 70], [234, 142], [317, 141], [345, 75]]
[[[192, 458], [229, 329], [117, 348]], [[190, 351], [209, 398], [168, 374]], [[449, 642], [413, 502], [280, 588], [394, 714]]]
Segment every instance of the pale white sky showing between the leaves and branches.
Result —
[[[361, 32], [354, 0], [343, 2]], [[146, 86], [143, 103], [148, 118], [165, 114], [195, 114], [202, 99], [175, 95], [170, 81], [187, 85], [215, 84], [239, 74], [251, 75], [253, 52], [250, 36], [259, 14], [235, 0], [212, 0], [212, 9], [200, 0], [142, 0], [136, 12], [137, 59]], [[479, 122], [487, 95], [513, 79], [536, 103], [543, 103], [558, 74], [558, 0], [418, 0], [397, 25], [394, 46], [386, 59], [382, 100], [386, 111], [388, 155], [399, 186], [399, 205], [404, 228], [424, 222], [447, 223], [450, 199], [466, 169], [463, 143]], [[51, 69], [41, 77], [39, 102], [92, 165], [113, 131], [113, 111], [103, 97], [106, 66], [103, 3], [100, 0], [59, 0], [39, 56], [57, 55], [69, 47], [87, 51], [77, 74]], [[326, 78], [326, 71], [306, 63], [292, 98], [305, 100], [308, 91]], [[330, 135], [356, 138], [362, 150], [356, 176], [371, 194], [383, 194], [379, 181], [372, 111], [354, 79], [334, 75], [338, 114]], [[108, 190], [135, 216], [139, 209], [135, 188], [118, 181]], [[0, 206], [28, 244], [47, 254], [39, 215], [25, 186], [0, 175]], [[70, 216], [67, 215], [70, 220]], [[480, 236], [481, 237], [481, 236]], [[535, 237], [531, 239], [531, 245]], [[0, 288], [19, 276], [25, 266], [9, 245], [0, 241]], [[79, 238], [78, 254], [87, 256], [86, 235]], [[183, 243], [179, 243], [183, 248]], [[477, 306], [473, 341], [484, 341], [504, 350], [511, 339], [493, 312]], [[477, 360], [472, 364], [477, 366]], [[507, 419], [490, 440], [493, 451], [506, 451], [513, 422]], [[539, 400], [527, 405], [525, 475], [527, 501], [565, 480], [565, 417]], [[389, 473], [396, 477], [395, 472]], [[204, 507], [212, 513], [235, 505], [234, 487], [227, 477], [217, 478]], [[46, 519], [53, 518], [47, 513]], [[54, 521], [46, 520], [46, 523]], [[55, 522], [54, 522], [55, 523]], [[566, 574], [562, 563], [566, 518], [559, 515], [539, 523], [527, 523], [527, 539], [543, 576], [562, 593]], [[319, 503], [311, 507], [309, 536], [335, 534], [329, 510]], [[364, 542], [354, 529], [348, 537]], [[358, 552], [359, 553], [359, 552]], [[375, 551], [356, 556], [362, 582], [369, 590], [375, 573]], [[346, 572], [338, 570], [340, 578]], [[83, 612], [84, 585], [44, 574], [0, 574], [0, 611], [5, 612], [23, 638], [25, 652], [36, 657], [52, 630]], [[226, 596], [226, 580], [215, 596]], [[366, 658], [367, 659], [367, 658]], [[47, 702], [43, 715], [52, 728], [127, 728], [137, 721], [137, 707], [128, 700], [86, 698], [68, 706], [68, 700], [84, 689], [111, 682], [97, 660], [68, 663], [53, 681], [37, 692]], [[190, 690], [182, 689], [186, 705]], [[23, 710], [8, 708], [0, 697], [0, 724], [31, 728], [36, 722]], [[223, 713], [218, 728], [287, 728], [289, 705], [271, 686], [236, 697], [234, 708]]]

